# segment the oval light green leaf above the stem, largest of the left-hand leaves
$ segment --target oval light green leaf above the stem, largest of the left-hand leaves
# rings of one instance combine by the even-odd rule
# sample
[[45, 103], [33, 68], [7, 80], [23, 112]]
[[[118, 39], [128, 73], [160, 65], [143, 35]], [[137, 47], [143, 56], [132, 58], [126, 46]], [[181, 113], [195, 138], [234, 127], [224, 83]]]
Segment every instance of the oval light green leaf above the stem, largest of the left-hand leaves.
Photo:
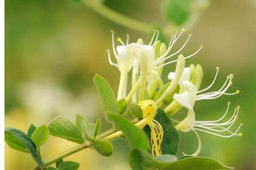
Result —
[[48, 124], [48, 128], [50, 134], [53, 136], [61, 137], [76, 143], [84, 143], [84, 138], [78, 127], [64, 116], [59, 116], [53, 119]]

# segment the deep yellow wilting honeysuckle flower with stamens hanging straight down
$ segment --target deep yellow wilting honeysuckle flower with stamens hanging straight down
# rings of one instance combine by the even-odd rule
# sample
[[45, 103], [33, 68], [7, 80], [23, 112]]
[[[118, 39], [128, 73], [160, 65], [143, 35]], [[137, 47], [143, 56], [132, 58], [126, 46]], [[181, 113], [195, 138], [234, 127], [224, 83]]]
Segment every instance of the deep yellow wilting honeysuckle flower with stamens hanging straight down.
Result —
[[[160, 123], [154, 119], [157, 111], [156, 103], [153, 100], [142, 100], [138, 102], [138, 105], [143, 111], [143, 120], [146, 121], [146, 124], [148, 124], [151, 130], [150, 141], [152, 146], [152, 154], [154, 156], [159, 156], [162, 154], [161, 145], [164, 131], [162, 125], [160, 125]], [[140, 121], [140, 123], [143, 123], [144, 121]]]

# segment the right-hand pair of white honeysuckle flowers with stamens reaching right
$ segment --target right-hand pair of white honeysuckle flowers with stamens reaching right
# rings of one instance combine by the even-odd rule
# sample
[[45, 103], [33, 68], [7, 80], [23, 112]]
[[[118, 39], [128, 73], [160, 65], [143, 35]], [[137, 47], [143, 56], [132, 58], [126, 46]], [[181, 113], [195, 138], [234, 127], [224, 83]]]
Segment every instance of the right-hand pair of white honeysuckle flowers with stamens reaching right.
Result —
[[[196, 152], [194, 154], [192, 154], [192, 156], [198, 155], [198, 153], [201, 150], [201, 141], [200, 141], [199, 135], [197, 134], [196, 131], [203, 131], [203, 132], [210, 133], [212, 135], [216, 135], [219, 137], [232, 137], [234, 135], [236, 135], [236, 136], [242, 135], [242, 133], [237, 134], [237, 132], [239, 131], [242, 124], [238, 127], [238, 129], [236, 130], [235, 133], [232, 133], [231, 131], [228, 130], [228, 129], [230, 129], [230, 127], [232, 127], [232, 125], [234, 124], [234, 122], [237, 119], [238, 111], [240, 109], [239, 106], [236, 107], [234, 114], [228, 121], [226, 121], [224, 123], [217, 123], [217, 122], [221, 121], [226, 116], [230, 102], [228, 103], [228, 108], [227, 108], [225, 114], [222, 116], [222, 118], [220, 118], [216, 121], [196, 121], [196, 119], [195, 119], [195, 112], [194, 112], [193, 107], [194, 107], [196, 100], [214, 99], [214, 98], [220, 97], [223, 94], [232, 95], [232, 94], [239, 93], [239, 90], [237, 90], [235, 93], [230, 93], [230, 94], [225, 93], [226, 90], [228, 89], [228, 87], [232, 84], [233, 74], [230, 74], [229, 76], [227, 76], [227, 79], [226, 79], [226, 82], [224, 83], [224, 85], [217, 92], [198, 94], [198, 93], [208, 90], [214, 84], [214, 82], [216, 80], [216, 76], [218, 74], [218, 71], [219, 71], [219, 68], [217, 67], [217, 72], [214, 77], [214, 80], [213, 80], [212, 84], [210, 84], [210, 86], [208, 86], [207, 88], [197, 91], [195, 85], [192, 82], [184, 80], [182, 82], [182, 84], [186, 88], [188, 88], [188, 91], [184, 91], [181, 94], [174, 94], [174, 96], [173, 96], [173, 98], [174, 98], [174, 100], [176, 100], [176, 102], [178, 102], [181, 106], [186, 107], [188, 109], [187, 117], [184, 120], [182, 120], [181, 122], [179, 122], [178, 125], [175, 126], [176, 130], [178, 130], [178, 131], [180, 130], [183, 132], [188, 132], [188, 131], [192, 130], [196, 133], [196, 136], [198, 138], [198, 149], [196, 150]], [[227, 84], [227, 82], [228, 82], [228, 84]], [[229, 125], [229, 126], [225, 127], [226, 125]], [[218, 132], [228, 132], [231, 135], [220, 135], [220, 134], [218, 134]]]

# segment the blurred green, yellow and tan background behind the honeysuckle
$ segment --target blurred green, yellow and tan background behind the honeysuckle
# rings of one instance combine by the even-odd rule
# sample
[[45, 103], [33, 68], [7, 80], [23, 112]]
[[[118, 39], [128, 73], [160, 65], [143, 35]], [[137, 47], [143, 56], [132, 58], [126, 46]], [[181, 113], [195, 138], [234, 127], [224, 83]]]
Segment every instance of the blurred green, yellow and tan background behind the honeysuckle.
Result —
[[[168, 23], [161, 14], [160, 3], [156, 0], [104, 2], [125, 16], [158, 26]], [[188, 29], [185, 34], [193, 33], [193, 37], [182, 51], [184, 55], [191, 54], [204, 43], [204, 49], [186, 61], [187, 66], [199, 63], [204, 68], [202, 87], [210, 84], [216, 66], [220, 67], [220, 74], [214, 89], [221, 86], [228, 74], [234, 74], [230, 92], [239, 89], [239, 95], [196, 102], [195, 111], [197, 119], [216, 119], [224, 113], [228, 101], [231, 102], [230, 114], [237, 105], [241, 106], [236, 126], [244, 123], [242, 137], [226, 139], [200, 132], [199, 135], [200, 156], [244, 170], [256, 169], [255, 16], [255, 0], [208, 1], [196, 20], [185, 27]], [[102, 131], [110, 128], [92, 82], [94, 74], [100, 74], [117, 91], [119, 72], [108, 64], [106, 57], [106, 49], [111, 47], [110, 29], [123, 39], [126, 33], [130, 33], [132, 41], [140, 37], [145, 42], [150, 39], [148, 33], [114, 23], [76, 1], [6, 0], [5, 126], [27, 131], [31, 123], [47, 124], [58, 115], [74, 121], [79, 113], [92, 122], [100, 117]], [[165, 38], [168, 39], [168, 35]], [[178, 49], [185, 38], [183, 36], [174, 49]], [[174, 67], [173, 64], [164, 68], [164, 75], [174, 71]], [[180, 115], [185, 112], [180, 111]], [[196, 150], [198, 141], [193, 133], [180, 133], [180, 138], [179, 155]], [[64, 160], [79, 162], [81, 170], [130, 169], [129, 147], [122, 140], [113, 143], [114, 153], [110, 157], [86, 149]], [[74, 145], [50, 136], [42, 147], [42, 157], [47, 160]], [[6, 170], [27, 170], [34, 166], [31, 156], [6, 145]]]

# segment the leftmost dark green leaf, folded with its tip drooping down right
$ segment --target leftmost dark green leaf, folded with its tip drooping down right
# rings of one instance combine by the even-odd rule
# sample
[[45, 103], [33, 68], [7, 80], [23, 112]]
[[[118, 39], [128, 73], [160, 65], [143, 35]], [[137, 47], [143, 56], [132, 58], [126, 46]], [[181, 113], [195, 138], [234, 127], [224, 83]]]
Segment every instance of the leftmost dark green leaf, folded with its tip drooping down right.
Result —
[[4, 129], [4, 140], [12, 149], [20, 150], [22, 152], [25, 152], [25, 149], [28, 150], [38, 166], [44, 168], [44, 162], [39, 158], [36, 152], [36, 145], [26, 133], [19, 129], [6, 127]]

